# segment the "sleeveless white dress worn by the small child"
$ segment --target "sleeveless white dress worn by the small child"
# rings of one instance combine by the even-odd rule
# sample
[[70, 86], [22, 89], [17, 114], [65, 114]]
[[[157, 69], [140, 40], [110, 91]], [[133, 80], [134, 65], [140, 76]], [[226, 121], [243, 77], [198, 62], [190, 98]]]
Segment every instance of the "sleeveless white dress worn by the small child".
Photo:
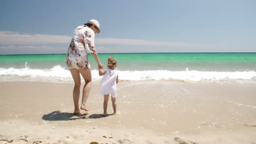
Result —
[[101, 79], [100, 93], [110, 94], [113, 98], [117, 97], [117, 76], [118, 71], [113, 69], [106, 69], [106, 74]]

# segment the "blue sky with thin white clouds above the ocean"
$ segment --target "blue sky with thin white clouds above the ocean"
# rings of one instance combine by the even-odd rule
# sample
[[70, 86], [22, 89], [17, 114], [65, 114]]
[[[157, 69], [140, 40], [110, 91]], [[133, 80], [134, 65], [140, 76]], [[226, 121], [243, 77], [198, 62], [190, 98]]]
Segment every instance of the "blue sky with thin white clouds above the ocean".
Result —
[[90, 19], [99, 53], [256, 52], [256, 1], [2, 0], [0, 12], [0, 55], [66, 53]]

